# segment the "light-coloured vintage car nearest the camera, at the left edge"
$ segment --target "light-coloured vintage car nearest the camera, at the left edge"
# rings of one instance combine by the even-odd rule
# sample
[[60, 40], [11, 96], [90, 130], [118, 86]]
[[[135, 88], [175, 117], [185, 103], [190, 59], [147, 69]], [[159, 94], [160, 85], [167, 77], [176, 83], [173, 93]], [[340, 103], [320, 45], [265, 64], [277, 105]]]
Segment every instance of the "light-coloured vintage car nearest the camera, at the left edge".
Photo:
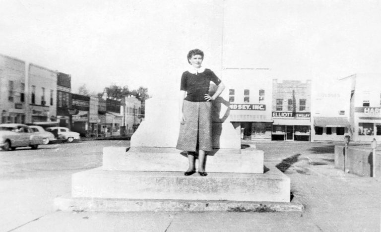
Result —
[[16, 147], [31, 147], [37, 149], [43, 144], [43, 138], [33, 133], [29, 126], [18, 123], [0, 124], [0, 147], [4, 151]]

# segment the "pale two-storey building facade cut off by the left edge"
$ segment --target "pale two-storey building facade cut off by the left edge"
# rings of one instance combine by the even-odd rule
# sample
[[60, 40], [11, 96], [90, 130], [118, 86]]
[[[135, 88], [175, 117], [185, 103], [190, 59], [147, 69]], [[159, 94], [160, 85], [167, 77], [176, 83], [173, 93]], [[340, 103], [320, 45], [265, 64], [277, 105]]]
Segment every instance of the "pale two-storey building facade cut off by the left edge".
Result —
[[0, 55], [0, 123], [25, 123], [25, 62]]

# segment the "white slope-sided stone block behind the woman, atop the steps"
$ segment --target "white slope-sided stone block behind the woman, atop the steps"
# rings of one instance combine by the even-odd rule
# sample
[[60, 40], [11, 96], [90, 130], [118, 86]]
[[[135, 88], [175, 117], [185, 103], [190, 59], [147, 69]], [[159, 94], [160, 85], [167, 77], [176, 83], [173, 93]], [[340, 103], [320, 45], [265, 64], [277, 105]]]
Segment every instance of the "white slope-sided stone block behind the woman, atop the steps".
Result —
[[[229, 121], [228, 102], [213, 102], [213, 147], [240, 149], [241, 139]], [[178, 99], [148, 99], [146, 116], [131, 137], [131, 147], [176, 147], [180, 131]]]

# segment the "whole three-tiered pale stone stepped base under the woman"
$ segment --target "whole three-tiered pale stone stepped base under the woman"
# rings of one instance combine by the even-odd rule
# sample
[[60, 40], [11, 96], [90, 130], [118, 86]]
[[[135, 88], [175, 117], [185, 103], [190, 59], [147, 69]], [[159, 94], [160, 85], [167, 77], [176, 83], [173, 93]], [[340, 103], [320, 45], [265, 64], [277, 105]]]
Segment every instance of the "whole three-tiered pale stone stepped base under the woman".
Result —
[[[128, 151], [126, 151], [128, 150]], [[186, 154], [174, 148], [106, 147], [103, 166], [72, 175], [71, 198], [56, 209], [89, 211], [301, 211], [290, 203], [290, 178], [263, 165], [260, 150], [216, 150], [207, 176], [185, 176]], [[225, 171], [225, 172], [224, 172]]]

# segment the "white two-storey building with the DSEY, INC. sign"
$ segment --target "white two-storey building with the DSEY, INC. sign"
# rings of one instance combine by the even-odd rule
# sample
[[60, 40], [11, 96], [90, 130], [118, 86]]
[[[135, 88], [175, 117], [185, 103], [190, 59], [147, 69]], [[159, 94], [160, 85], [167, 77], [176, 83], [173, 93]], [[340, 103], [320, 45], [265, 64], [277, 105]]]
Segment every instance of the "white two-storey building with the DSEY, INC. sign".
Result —
[[225, 68], [223, 82], [226, 85], [224, 98], [230, 104], [230, 121], [241, 130], [241, 138], [271, 140], [270, 70]]

